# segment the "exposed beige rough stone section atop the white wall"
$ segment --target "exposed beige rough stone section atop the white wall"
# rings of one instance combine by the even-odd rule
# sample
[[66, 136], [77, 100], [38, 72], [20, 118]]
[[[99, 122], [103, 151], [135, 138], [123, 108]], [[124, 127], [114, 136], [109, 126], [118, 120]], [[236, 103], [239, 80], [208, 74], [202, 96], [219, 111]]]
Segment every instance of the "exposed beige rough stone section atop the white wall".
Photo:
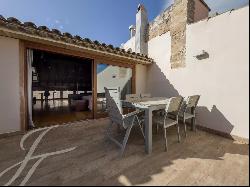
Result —
[[185, 67], [186, 25], [195, 20], [195, 0], [175, 0], [174, 4], [149, 23], [148, 38], [151, 40], [170, 31], [171, 67]]

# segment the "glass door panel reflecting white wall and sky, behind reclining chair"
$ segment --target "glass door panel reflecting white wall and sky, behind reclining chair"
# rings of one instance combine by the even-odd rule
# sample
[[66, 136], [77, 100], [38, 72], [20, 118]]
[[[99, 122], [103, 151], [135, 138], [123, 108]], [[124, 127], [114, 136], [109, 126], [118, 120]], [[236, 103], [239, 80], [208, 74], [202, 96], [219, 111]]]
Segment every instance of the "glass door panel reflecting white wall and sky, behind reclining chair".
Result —
[[107, 116], [104, 87], [116, 88], [119, 97], [124, 100], [126, 94], [132, 93], [132, 69], [108, 64], [97, 64], [97, 117]]

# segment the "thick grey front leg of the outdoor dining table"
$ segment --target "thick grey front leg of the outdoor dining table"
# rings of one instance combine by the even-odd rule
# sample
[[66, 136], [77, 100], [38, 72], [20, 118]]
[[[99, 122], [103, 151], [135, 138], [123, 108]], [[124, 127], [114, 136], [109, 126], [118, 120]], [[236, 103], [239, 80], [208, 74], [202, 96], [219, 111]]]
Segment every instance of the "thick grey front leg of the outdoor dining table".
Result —
[[152, 153], [152, 110], [145, 110], [145, 151], [147, 154]]

